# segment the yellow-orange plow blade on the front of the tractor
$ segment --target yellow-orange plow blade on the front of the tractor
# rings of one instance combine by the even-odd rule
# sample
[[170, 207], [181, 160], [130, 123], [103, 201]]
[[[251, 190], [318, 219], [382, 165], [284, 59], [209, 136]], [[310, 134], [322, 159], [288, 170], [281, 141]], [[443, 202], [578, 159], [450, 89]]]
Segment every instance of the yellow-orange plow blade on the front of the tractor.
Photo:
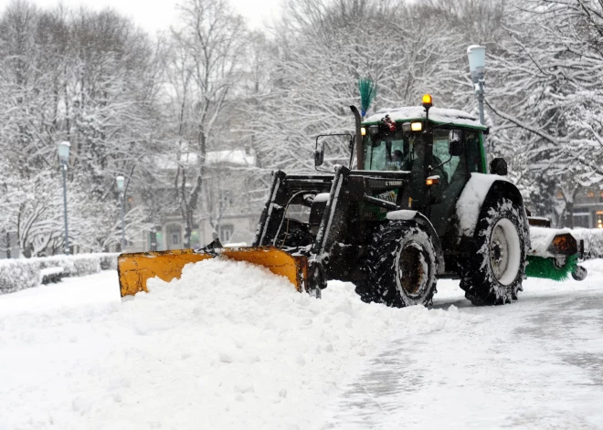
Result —
[[162, 278], [169, 282], [180, 278], [188, 263], [207, 258], [227, 257], [237, 261], [248, 261], [266, 267], [270, 272], [288, 278], [298, 291], [302, 291], [307, 276], [308, 259], [293, 257], [274, 246], [249, 246], [215, 249], [211, 254], [193, 249], [151, 251], [122, 254], [117, 260], [122, 297], [133, 296], [139, 291], [148, 291], [149, 278]]

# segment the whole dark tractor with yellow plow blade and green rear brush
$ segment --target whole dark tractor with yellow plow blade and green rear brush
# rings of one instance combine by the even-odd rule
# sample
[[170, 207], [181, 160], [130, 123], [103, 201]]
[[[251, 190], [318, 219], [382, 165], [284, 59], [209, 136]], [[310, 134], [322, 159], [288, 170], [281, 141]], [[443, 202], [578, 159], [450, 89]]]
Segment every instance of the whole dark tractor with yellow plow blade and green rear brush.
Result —
[[350, 281], [364, 301], [395, 307], [427, 305], [439, 278], [460, 278], [475, 305], [498, 305], [517, 299], [526, 275], [586, 277], [583, 246], [526, 215], [504, 160], [488, 172], [488, 128], [470, 114], [432, 108], [428, 95], [364, 121], [351, 110], [349, 166], [322, 168], [327, 135], [316, 139], [317, 174], [274, 172], [253, 246], [122, 254], [122, 296], [212, 257], [268, 267], [317, 297], [330, 279]]

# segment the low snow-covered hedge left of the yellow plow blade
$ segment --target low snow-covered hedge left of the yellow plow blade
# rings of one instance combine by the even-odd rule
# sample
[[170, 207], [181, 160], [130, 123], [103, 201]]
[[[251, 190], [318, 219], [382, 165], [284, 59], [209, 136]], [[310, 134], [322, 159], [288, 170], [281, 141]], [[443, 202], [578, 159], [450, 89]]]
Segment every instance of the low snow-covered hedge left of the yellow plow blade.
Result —
[[65, 277], [82, 277], [100, 270], [115, 270], [118, 253], [81, 254], [0, 260], [0, 294], [32, 288], [42, 281], [40, 270], [62, 267]]

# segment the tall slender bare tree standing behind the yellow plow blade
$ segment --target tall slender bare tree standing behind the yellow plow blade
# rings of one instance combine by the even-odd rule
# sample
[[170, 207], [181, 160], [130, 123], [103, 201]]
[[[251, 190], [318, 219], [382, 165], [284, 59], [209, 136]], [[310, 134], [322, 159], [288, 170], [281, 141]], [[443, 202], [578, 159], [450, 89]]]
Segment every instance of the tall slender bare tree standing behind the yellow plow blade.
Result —
[[[167, 61], [175, 124], [174, 186], [190, 246], [202, 192], [206, 152], [219, 148], [220, 117], [238, 85], [246, 27], [226, 0], [185, 0]], [[195, 160], [192, 160], [195, 158]]]

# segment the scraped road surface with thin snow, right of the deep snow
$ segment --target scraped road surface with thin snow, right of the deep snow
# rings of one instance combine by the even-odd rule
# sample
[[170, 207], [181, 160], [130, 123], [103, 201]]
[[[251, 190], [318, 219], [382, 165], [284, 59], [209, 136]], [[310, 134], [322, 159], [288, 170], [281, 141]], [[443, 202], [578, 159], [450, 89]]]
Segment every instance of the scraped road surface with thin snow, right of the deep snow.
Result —
[[442, 282], [434, 307], [485, 317], [390, 341], [330, 408], [332, 428], [603, 428], [603, 273], [524, 282], [474, 308]]

